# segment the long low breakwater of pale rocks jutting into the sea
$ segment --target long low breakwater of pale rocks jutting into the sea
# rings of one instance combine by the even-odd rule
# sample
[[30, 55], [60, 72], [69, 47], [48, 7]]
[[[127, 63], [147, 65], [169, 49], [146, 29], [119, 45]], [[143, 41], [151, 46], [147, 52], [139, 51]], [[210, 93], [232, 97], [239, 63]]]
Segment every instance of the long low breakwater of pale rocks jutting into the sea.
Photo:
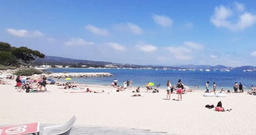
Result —
[[[51, 73], [45, 75], [47, 78], [67, 78], [67, 77], [112, 77], [111, 73]], [[32, 75], [33, 77], [41, 77], [41, 75]]]

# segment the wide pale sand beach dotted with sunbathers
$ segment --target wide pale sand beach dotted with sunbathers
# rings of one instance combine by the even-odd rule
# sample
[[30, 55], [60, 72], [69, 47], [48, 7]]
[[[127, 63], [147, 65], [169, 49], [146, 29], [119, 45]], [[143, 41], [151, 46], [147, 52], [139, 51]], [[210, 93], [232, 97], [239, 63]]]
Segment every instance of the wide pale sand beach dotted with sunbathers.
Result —
[[[164, 90], [132, 97], [135, 93], [131, 90], [118, 93], [107, 86], [87, 86], [105, 93], [64, 93], [86, 90], [61, 90], [58, 88], [64, 86], [47, 85], [51, 92], [18, 93], [14, 88], [16, 82], [9, 83], [12, 85], [0, 85], [0, 125], [62, 124], [76, 116], [76, 125], [150, 129], [172, 134], [256, 134], [256, 96], [247, 95], [247, 91], [230, 93], [225, 98], [204, 97], [204, 91], [195, 91], [182, 95], [182, 101], [173, 101], [163, 100]], [[171, 98], [177, 99], [177, 95]], [[232, 108], [232, 111], [205, 108], [207, 104], [216, 106], [220, 100], [225, 109]]]

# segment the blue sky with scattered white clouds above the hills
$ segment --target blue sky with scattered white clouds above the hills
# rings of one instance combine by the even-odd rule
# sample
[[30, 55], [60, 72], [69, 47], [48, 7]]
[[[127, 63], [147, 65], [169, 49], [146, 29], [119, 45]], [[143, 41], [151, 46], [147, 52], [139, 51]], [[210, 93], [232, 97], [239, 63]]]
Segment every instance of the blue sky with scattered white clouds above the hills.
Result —
[[0, 0], [0, 41], [114, 63], [256, 66], [256, 2]]

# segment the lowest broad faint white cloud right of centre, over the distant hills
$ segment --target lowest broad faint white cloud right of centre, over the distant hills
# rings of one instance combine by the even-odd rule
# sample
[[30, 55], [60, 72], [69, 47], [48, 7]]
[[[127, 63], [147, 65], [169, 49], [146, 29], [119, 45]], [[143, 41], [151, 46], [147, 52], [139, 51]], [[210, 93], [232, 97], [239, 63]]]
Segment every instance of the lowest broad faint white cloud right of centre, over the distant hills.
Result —
[[190, 60], [193, 57], [190, 55], [190, 53], [192, 52], [192, 50], [187, 49], [185, 47], [166, 47], [166, 50], [169, 50], [175, 58], [178, 59], [184, 59], [184, 60]]

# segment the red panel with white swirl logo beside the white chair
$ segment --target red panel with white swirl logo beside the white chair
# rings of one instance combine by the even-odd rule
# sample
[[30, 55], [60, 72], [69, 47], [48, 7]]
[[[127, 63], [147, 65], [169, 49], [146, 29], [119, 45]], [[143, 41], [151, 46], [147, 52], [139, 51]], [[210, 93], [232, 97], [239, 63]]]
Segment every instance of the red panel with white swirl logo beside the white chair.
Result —
[[19, 135], [39, 132], [40, 123], [20, 124], [14, 126], [0, 127], [0, 135]]

